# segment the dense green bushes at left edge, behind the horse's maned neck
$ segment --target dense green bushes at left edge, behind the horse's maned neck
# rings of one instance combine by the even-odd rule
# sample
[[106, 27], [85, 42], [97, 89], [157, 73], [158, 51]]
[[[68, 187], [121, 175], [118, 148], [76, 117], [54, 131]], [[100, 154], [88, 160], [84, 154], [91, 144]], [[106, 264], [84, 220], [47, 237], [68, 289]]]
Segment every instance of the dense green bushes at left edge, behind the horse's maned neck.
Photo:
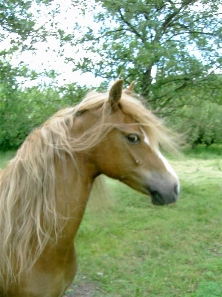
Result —
[[63, 88], [38, 86], [11, 89], [2, 88], [0, 98], [0, 145], [2, 150], [18, 148], [25, 137], [37, 126], [55, 114], [62, 107], [72, 106], [80, 101], [86, 87], [77, 84]]

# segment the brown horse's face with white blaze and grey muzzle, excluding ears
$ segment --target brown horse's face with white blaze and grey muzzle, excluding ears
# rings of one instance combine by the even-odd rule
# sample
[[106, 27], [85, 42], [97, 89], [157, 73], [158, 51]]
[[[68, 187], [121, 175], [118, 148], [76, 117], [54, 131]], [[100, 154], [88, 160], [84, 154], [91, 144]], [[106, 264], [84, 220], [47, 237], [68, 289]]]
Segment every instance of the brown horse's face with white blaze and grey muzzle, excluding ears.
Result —
[[97, 148], [99, 171], [126, 183], [132, 188], [150, 194], [156, 205], [170, 204], [177, 200], [179, 180], [168, 161], [159, 152], [153, 152], [145, 132], [133, 125], [130, 115], [121, 111], [113, 115], [132, 122], [126, 130], [114, 129]]

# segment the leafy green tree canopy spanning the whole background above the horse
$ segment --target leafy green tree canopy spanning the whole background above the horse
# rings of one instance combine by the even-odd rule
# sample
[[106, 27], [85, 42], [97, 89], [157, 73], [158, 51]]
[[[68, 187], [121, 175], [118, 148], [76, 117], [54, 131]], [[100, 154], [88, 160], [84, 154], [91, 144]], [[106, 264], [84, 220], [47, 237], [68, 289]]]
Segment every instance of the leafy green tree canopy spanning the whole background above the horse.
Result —
[[[80, 100], [86, 92], [76, 81], [56, 85], [54, 69], [37, 73], [23, 61], [16, 67], [10, 64], [15, 53], [35, 52], [38, 43], [45, 42], [46, 50], [52, 50], [52, 38], [59, 41], [57, 57], [72, 64], [74, 73], [81, 70], [104, 78], [100, 90], [117, 77], [127, 84], [135, 80], [135, 91], [171, 126], [189, 131], [190, 143], [220, 141], [219, 0], [70, 0], [63, 12], [62, 6], [56, 0], [5, 0], [0, 4], [1, 41], [10, 44], [0, 51], [0, 142], [5, 147], [12, 146], [13, 139], [18, 145], [40, 119]], [[66, 31], [59, 16], [73, 8], [86, 15], [86, 24], [73, 17]], [[94, 22], [87, 23], [90, 14]], [[68, 55], [67, 46], [77, 54]], [[38, 76], [43, 82], [35, 87], [21, 85], [27, 77]], [[44, 82], [46, 76], [51, 85]]]

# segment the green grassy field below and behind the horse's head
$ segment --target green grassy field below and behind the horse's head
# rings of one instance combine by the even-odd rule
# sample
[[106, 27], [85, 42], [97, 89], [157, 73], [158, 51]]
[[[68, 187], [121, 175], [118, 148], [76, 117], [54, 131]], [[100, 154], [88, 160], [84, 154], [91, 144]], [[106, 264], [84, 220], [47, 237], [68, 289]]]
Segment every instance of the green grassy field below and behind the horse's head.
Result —
[[221, 296], [221, 146], [170, 163], [181, 182], [170, 207], [106, 179], [111, 205], [93, 207], [92, 200], [87, 207], [76, 238], [78, 273], [66, 296]]

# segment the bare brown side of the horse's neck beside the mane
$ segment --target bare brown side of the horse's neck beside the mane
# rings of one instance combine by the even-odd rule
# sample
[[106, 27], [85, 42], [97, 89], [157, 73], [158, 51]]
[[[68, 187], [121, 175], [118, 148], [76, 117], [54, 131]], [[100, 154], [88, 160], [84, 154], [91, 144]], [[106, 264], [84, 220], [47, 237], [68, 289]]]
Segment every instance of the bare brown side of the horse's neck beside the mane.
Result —
[[65, 237], [73, 240], [84, 215], [96, 170], [87, 155], [77, 155], [79, 170], [70, 156], [66, 158], [65, 167], [61, 161], [56, 162], [56, 200], [59, 213], [68, 216]]

